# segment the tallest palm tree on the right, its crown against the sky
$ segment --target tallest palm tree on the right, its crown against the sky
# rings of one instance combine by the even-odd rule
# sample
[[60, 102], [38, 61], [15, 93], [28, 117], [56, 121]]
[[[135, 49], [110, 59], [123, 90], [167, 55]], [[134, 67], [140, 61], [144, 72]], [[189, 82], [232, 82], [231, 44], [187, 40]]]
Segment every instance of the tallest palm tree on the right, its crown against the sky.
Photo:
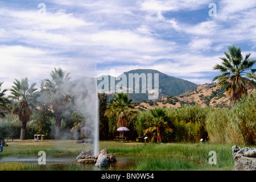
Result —
[[226, 86], [226, 95], [229, 97], [230, 106], [233, 107], [242, 94], [247, 95], [247, 85], [254, 88], [256, 69], [252, 68], [256, 60], [249, 60], [251, 53], [247, 53], [243, 59], [241, 47], [229, 46], [228, 49], [229, 52], [224, 52], [225, 56], [220, 57], [221, 65], [217, 64], [213, 68], [222, 75], [214, 77], [212, 81], [218, 80], [218, 86]]

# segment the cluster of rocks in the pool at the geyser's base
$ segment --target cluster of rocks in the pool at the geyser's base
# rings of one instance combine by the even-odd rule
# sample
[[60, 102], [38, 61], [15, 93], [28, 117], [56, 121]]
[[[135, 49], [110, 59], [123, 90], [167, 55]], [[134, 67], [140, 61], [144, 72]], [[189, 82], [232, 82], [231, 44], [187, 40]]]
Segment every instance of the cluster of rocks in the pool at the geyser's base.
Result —
[[[114, 154], [110, 154], [108, 150], [102, 149], [101, 151], [98, 152], [96, 156], [93, 156], [92, 151], [90, 150], [83, 150], [79, 156], [76, 158], [77, 163], [89, 163], [89, 164], [95, 164], [97, 163], [97, 159], [99, 158], [100, 155], [104, 155], [106, 157], [106, 161], [108, 163], [114, 163], [117, 162], [115, 159]], [[103, 158], [103, 156], [101, 156]], [[104, 159], [105, 160], [105, 159]]]

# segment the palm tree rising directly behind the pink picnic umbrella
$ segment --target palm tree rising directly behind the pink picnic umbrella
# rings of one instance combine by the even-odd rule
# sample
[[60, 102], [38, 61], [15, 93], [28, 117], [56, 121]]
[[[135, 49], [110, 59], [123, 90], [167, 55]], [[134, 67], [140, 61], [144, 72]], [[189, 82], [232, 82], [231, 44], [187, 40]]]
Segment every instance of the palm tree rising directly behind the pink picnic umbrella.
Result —
[[105, 115], [108, 117], [117, 116], [117, 127], [129, 126], [129, 121], [135, 117], [137, 111], [134, 110], [133, 100], [129, 99], [128, 94], [117, 93], [107, 106]]

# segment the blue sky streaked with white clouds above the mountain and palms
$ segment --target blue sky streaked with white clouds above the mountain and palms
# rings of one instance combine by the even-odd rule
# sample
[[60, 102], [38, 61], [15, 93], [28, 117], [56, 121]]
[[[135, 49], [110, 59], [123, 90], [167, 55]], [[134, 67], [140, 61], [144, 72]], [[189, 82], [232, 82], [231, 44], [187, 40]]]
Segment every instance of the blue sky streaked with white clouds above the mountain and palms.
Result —
[[73, 79], [156, 69], [210, 83], [228, 46], [256, 59], [255, 19], [255, 0], [0, 0], [0, 81], [39, 85], [60, 67]]

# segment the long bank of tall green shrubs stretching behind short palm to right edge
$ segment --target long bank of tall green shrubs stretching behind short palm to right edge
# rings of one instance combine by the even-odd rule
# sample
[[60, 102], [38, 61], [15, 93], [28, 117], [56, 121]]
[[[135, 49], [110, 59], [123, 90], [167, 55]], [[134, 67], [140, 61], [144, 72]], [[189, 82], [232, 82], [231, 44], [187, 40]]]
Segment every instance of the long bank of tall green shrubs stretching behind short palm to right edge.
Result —
[[[256, 91], [243, 96], [232, 108], [202, 108], [184, 105], [167, 109], [172, 133], [163, 133], [165, 142], [199, 142], [201, 138], [213, 143], [256, 144]], [[141, 133], [149, 118], [143, 111], [135, 119], [135, 129]]]

